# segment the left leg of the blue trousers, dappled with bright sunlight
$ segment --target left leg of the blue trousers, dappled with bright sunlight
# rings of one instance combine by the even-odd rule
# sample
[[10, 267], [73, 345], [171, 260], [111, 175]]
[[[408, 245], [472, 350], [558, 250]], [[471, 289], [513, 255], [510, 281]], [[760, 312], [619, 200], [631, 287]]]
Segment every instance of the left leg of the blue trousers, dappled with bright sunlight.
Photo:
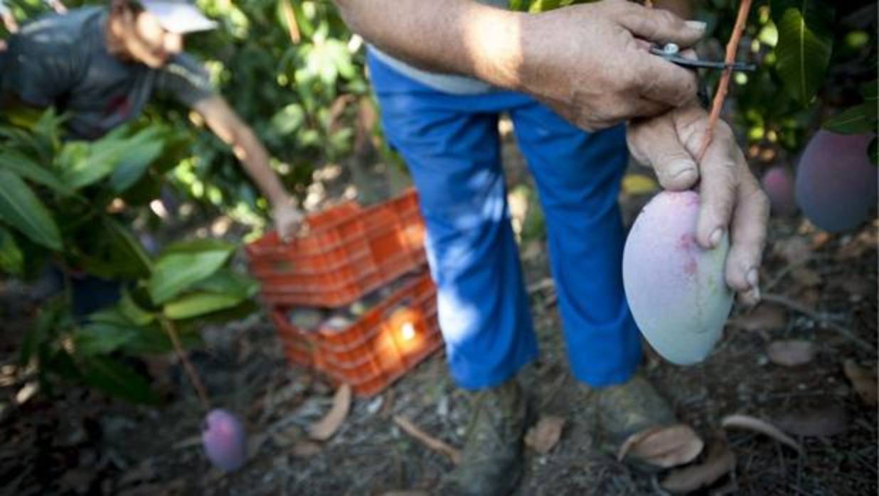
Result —
[[499, 161], [498, 112], [523, 97], [447, 95], [373, 58], [369, 68], [418, 189], [451, 375], [466, 389], [498, 385], [537, 355]]

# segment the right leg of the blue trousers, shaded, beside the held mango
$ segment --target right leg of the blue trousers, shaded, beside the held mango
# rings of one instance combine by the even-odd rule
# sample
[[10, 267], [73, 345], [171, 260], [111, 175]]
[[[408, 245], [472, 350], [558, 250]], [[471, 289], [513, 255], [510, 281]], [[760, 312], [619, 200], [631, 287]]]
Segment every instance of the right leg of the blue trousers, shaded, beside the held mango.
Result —
[[625, 129], [586, 133], [534, 101], [511, 117], [546, 215], [570, 368], [590, 385], [626, 382], [641, 348], [622, 288]]

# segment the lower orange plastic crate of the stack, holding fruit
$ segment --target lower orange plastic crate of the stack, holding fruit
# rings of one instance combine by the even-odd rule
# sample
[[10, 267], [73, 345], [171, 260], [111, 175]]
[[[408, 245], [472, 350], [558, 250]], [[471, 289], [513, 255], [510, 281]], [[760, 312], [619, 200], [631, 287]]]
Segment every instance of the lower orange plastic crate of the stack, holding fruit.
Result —
[[381, 392], [443, 342], [426, 270], [340, 331], [296, 327], [288, 310], [275, 306], [271, 314], [290, 361], [321, 370], [360, 396]]

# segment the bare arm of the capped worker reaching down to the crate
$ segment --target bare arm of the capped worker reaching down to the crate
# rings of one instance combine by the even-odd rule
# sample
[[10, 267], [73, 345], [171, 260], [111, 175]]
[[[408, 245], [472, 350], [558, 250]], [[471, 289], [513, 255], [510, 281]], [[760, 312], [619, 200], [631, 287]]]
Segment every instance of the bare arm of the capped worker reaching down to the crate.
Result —
[[268, 198], [272, 204], [272, 218], [278, 234], [285, 239], [293, 235], [301, 222], [301, 212], [269, 165], [269, 155], [250, 126], [244, 124], [229, 104], [218, 95], [201, 99], [193, 104], [193, 110], [205, 119], [207, 126], [218, 138], [232, 148], [244, 170], [265, 198]]

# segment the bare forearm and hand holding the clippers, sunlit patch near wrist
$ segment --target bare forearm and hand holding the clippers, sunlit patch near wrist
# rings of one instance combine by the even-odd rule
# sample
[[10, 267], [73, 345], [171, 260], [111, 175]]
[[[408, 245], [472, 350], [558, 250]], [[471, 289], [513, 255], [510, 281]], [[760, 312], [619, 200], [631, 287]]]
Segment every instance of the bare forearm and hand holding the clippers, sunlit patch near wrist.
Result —
[[536, 15], [474, 0], [335, 2], [352, 30], [382, 51], [530, 93], [585, 129], [654, 115], [696, 93], [693, 71], [649, 54], [643, 42], [690, 47], [701, 37], [704, 24], [668, 11], [624, 0]]

